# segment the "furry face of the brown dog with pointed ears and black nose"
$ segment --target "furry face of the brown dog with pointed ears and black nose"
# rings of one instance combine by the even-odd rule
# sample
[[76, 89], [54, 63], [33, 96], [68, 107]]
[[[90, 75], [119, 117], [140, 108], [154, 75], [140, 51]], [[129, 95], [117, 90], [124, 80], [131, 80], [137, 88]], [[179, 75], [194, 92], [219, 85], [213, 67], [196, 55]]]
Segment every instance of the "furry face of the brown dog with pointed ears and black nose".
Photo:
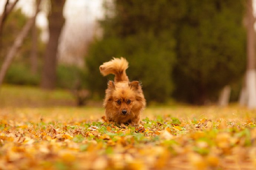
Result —
[[130, 83], [109, 81], [104, 101], [106, 114], [114, 122], [124, 123], [140, 114], [145, 99], [138, 81]]

